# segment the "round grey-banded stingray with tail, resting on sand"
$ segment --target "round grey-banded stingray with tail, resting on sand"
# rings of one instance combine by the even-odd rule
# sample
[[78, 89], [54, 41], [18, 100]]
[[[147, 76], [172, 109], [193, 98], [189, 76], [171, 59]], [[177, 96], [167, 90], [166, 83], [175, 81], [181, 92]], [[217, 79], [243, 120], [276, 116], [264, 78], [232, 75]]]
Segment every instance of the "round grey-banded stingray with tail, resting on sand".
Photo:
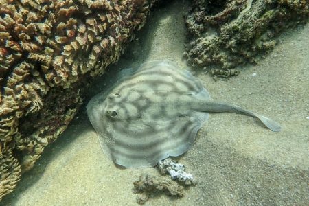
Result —
[[126, 168], [154, 166], [189, 150], [208, 113], [240, 113], [281, 129], [267, 117], [212, 100], [198, 78], [173, 62], [146, 62], [122, 73], [90, 100], [87, 113], [104, 153]]

